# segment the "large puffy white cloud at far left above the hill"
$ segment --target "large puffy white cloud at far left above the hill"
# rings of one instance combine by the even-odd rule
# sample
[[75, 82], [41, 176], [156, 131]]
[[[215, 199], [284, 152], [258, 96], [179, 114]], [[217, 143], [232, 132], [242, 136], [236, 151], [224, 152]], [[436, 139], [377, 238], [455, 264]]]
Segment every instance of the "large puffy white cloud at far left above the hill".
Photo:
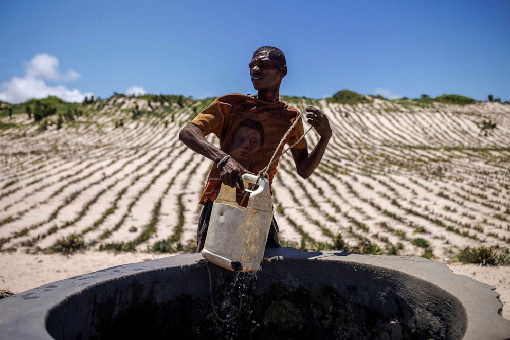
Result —
[[65, 101], [83, 101], [85, 96], [93, 93], [81, 93], [79, 90], [68, 88], [62, 85], [50, 86], [44, 79], [52, 81], [75, 80], [80, 75], [70, 69], [65, 74], [58, 70], [59, 60], [57, 57], [40, 53], [35, 55], [27, 63], [25, 77], [13, 77], [10, 81], [2, 83], [0, 100], [10, 103], [21, 103], [25, 100], [35, 98], [41, 99], [47, 96], [57, 96]]

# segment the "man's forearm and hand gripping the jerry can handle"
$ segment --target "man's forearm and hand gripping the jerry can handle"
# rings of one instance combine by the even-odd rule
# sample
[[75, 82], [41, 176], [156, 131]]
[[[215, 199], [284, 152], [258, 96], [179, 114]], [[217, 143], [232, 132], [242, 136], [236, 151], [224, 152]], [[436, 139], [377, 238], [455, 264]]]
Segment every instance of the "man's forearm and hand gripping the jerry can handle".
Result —
[[[179, 139], [191, 150], [216, 163], [227, 156], [224, 151], [208, 142], [202, 130], [191, 122], [186, 124], [183, 130], [180, 131]], [[229, 158], [218, 170], [220, 170], [222, 183], [232, 188], [238, 186], [241, 192], [244, 192], [244, 184], [241, 175], [247, 172], [249, 173], [249, 171], [241, 164], [236, 162], [233, 158]]]

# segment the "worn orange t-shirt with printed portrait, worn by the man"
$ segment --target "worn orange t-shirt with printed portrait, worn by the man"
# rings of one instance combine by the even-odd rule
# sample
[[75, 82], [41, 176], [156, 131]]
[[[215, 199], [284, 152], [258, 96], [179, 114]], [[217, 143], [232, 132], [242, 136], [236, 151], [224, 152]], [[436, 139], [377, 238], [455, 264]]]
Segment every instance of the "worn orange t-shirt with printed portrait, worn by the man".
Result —
[[[202, 130], [204, 136], [211, 132], [214, 133], [220, 139], [221, 150], [227, 154], [234, 133], [244, 120], [249, 119], [260, 123], [264, 130], [264, 142], [260, 150], [252, 155], [250, 169], [248, 169], [257, 174], [267, 166], [283, 135], [299, 114], [300, 112], [297, 109], [291, 108], [282, 102], [269, 103], [254, 98], [254, 96], [232, 93], [215, 99], [191, 122]], [[303, 122], [300, 120], [293, 131], [290, 132], [285, 144], [294, 144], [303, 134]], [[284, 145], [278, 150], [277, 157], [283, 152]], [[306, 148], [306, 140], [301, 139], [294, 148]], [[269, 183], [272, 183], [277, 166], [278, 160], [267, 171]], [[207, 199], [214, 201], [220, 191], [220, 186], [220, 175], [217, 165], [214, 163], [200, 203], [205, 204]]]

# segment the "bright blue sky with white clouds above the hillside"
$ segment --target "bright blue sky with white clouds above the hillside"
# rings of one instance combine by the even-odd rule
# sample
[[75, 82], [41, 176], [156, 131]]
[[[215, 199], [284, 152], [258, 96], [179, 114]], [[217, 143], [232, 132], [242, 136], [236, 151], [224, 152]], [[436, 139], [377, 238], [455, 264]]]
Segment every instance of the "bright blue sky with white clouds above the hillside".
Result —
[[[0, 4], [0, 99], [253, 93], [254, 49], [287, 58], [281, 94], [348, 88], [510, 100], [509, 1], [159, 1]], [[81, 97], [80, 97], [81, 96]], [[13, 99], [14, 98], [14, 99]]]

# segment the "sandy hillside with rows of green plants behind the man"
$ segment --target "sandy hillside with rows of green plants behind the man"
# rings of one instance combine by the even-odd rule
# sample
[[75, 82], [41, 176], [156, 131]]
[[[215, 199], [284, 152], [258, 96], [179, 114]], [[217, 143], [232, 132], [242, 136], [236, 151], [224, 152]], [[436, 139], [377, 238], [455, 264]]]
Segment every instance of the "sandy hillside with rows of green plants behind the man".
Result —
[[[508, 249], [510, 105], [340, 97], [283, 98], [323, 110], [334, 133], [308, 180], [291, 156], [281, 160], [284, 244], [447, 262], [466, 246]], [[178, 132], [209, 102], [117, 95], [58, 102], [38, 122], [26, 114], [34, 102], [2, 114], [1, 249], [51, 252], [71, 233], [93, 249], [193, 249], [211, 163]], [[313, 147], [318, 136], [306, 139]]]

